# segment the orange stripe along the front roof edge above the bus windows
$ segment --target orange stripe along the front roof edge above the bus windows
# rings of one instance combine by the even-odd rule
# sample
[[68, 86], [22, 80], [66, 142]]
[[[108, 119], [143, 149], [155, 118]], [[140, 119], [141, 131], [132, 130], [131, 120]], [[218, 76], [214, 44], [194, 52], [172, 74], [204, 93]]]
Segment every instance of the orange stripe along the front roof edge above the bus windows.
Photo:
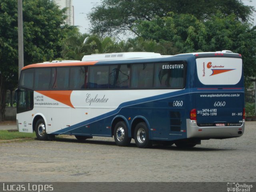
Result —
[[37, 67], [65, 67], [65, 66], [84, 66], [84, 65], [94, 65], [98, 61], [81, 61], [81, 62], [58, 62], [58, 63], [38, 63], [38, 64], [31, 64], [27, 65], [22, 68], [28, 69], [28, 68], [37, 68]]

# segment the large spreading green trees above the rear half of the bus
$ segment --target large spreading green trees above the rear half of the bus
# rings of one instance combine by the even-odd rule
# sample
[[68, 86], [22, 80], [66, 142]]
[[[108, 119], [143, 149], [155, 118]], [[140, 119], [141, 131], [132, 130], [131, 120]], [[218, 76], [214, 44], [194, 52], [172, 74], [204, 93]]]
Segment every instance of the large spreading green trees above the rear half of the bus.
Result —
[[[242, 0], [103, 0], [89, 19], [94, 34], [116, 36], [130, 30], [146, 41], [156, 41], [166, 54], [240, 53], [248, 84], [256, 77], [256, 26], [248, 22], [253, 13], [255, 8]], [[133, 43], [129, 41], [122, 43], [126, 46], [122, 50], [142, 50], [127, 49]], [[135, 42], [142, 45], [138, 39]]]

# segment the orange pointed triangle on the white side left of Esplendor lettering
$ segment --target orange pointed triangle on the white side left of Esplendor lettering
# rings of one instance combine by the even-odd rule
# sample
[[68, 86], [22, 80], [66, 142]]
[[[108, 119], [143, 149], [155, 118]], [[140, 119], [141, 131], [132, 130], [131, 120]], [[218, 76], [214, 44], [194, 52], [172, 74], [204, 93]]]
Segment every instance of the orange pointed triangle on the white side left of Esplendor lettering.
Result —
[[74, 106], [72, 105], [72, 103], [70, 101], [70, 96], [72, 93], [72, 91], [70, 91], [70, 90], [67, 90], [67, 91], [36, 91], [36, 92], [74, 108]]

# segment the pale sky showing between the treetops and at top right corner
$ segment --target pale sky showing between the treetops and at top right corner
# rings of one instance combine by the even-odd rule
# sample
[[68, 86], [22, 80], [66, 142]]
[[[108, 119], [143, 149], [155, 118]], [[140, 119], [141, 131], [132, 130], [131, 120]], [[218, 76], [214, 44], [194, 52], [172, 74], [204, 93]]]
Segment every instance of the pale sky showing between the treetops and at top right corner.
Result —
[[[242, 0], [245, 5], [254, 6], [256, 8], [256, 0]], [[88, 33], [90, 27], [90, 21], [87, 14], [91, 12], [91, 9], [100, 5], [101, 0], [72, 0], [74, 6], [74, 25], [79, 26], [81, 33]], [[256, 13], [253, 15], [254, 25], [256, 25]]]

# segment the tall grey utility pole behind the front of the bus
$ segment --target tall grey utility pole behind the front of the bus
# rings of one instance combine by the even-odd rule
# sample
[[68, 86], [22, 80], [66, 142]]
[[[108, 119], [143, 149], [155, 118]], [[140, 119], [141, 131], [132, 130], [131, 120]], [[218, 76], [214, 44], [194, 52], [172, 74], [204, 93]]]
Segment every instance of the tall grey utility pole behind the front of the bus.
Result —
[[18, 0], [18, 60], [20, 78], [20, 71], [24, 66], [22, 0]]

